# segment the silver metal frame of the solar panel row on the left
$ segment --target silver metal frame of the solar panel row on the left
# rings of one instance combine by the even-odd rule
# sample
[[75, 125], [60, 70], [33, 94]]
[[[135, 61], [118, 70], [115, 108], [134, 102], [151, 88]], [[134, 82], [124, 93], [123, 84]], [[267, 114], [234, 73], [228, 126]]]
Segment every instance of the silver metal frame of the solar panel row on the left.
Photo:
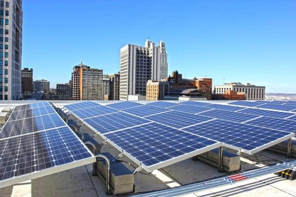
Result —
[[[62, 121], [64, 121], [62, 119], [62, 117], [57, 112], [56, 112], [56, 114], [57, 114], [57, 116], [60, 117], [60, 119]], [[5, 125], [3, 127], [5, 127]], [[73, 132], [72, 129], [69, 127], [69, 125], [67, 125], [66, 123], [65, 123], [65, 127], [67, 127], [71, 132]], [[51, 129], [48, 129], [48, 130], [53, 130], [53, 129], [57, 129], [57, 128], [51, 128]], [[46, 131], [48, 131], [48, 130], [46, 130]], [[39, 131], [39, 132], [46, 132], [46, 131]], [[96, 158], [93, 155], [93, 153], [86, 147], [86, 145], [81, 141], [81, 139], [74, 132], [73, 132], [73, 134], [77, 138], [77, 140], [83, 145], [83, 147], [90, 153], [91, 157], [85, 158], [85, 159], [82, 159], [82, 160], [78, 160], [78, 161], [74, 161], [74, 162], [71, 162], [71, 163], [67, 163], [67, 164], [56, 165], [54, 167], [45, 168], [45, 169], [42, 169], [40, 171], [35, 171], [35, 172], [29, 173], [29, 174], [23, 174], [23, 175], [20, 175], [20, 176], [15, 176], [15, 177], [12, 177], [12, 178], [1, 180], [0, 181], [0, 188], [7, 187], [7, 186], [10, 186], [10, 185], [14, 185], [14, 184], [17, 184], [17, 183], [20, 183], [20, 182], [23, 182], [23, 181], [27, 181], [27, 180], [30, 180], [30, 179], [36, 179], [36, 178], [43, 177], [43, 176], [46, 176], [46, 175], [54, 174], [54, 173], [61, 172], [61, 171], [64, 171], [64, 170], [72, 169], [72, 168], [75, 168], [75, 167], [80, 167], [82, 165], [95, 163]], [[24, 134], [24, 135], [27, 135], [27, 134]], [[9, 138], [13, 138], [13, 137], [9, 137]], [[6, 139], [9, 139], [9, 138], [6, 138]], [[5, 139], [3, 139], [3, 140], [5, 140]]]

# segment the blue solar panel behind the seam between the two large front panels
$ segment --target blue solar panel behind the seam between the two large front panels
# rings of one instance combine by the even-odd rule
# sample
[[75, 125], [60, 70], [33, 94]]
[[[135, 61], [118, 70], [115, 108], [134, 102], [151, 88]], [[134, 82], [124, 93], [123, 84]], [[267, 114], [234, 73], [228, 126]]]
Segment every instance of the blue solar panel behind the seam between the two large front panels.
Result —
[[212, 118], [180, 111], [168, 111], [162, 114], [148, 116], [146, 119], [180, 129], [197, 123], [209, 121]]

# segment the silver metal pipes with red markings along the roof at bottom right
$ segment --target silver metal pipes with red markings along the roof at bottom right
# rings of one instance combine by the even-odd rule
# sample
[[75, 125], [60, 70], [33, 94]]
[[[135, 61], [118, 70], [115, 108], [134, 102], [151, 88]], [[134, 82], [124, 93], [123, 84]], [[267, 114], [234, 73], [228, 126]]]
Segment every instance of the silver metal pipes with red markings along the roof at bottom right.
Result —
[[243, 172], [240, 174], [213, 179], [210, 181], [204, 181], [200, 183], [194, 183], [194, 184], [175, 187], [171, 189], [160, 190], [160, 191], [150, 192], [150, 193], [145, 193], [140, 195], [134, 195], [133, 197], [180, 197], [183, 195], [192, 194], [192, 193], [200, 192], [203, 190], [235, 184], [236, 182], [239, 182], [239, 181], [244, 181], [244, 180], [256, 178], [259, 176], [272, 174], [272, 173], [290, 169], [290, 168], [296, 168], [296, 160], [292, 162], [266, 166], [259, 169]]

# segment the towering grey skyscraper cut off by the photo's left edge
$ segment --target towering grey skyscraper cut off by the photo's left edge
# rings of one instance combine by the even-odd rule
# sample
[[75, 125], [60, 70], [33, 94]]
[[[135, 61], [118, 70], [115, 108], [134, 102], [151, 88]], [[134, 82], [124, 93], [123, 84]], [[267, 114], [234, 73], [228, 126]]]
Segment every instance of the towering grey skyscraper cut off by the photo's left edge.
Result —
[[0, 1], [0, 100], [22, 97], [22, 0]]

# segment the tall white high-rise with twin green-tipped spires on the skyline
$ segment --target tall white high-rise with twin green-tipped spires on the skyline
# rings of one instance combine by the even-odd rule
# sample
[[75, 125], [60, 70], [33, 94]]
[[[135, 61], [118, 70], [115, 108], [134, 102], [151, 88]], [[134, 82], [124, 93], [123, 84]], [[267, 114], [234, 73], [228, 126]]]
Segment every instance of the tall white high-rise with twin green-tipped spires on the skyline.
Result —
[[144, 47], [125, 45], [120, 49], [120, 100], [127, 100], [128, 95], [146, 95], [147, 81], [167, 78], [167, 70], [163, 40], [157, 47], [149, 38]]

